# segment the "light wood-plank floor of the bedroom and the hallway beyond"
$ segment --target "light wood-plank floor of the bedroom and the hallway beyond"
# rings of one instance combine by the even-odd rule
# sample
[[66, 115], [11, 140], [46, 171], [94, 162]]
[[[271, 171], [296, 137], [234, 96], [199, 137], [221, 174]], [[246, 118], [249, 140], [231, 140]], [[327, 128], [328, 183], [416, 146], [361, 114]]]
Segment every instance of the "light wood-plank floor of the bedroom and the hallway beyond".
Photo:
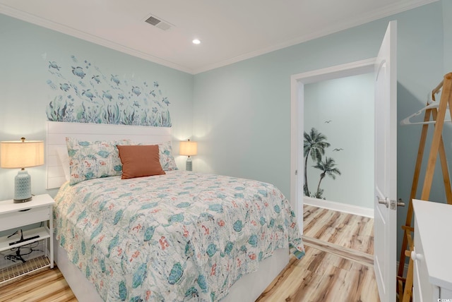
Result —
[[[304, 258], [290, 258], [258, 302], [379, 301], [373, 219], [304, 205], [304, 243]], [[56, 267], [0, 286], [3, 301], [77, 300]]]

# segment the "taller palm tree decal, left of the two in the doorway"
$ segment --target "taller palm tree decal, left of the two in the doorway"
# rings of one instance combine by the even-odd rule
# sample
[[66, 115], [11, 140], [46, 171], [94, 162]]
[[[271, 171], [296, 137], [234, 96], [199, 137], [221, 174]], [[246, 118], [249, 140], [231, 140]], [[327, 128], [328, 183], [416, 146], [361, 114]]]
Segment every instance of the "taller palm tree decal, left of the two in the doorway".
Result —
[[304, 131], [304, 195], [310, 196], [308, 188], [307, 163], [309, 154], [314, 162], [320, 162], [322, 156], [325, 154], [325, 149], [330, 146], [326, 142], [326, 136], [317, 131], [316, 128], [311, 128], [309, 134]]

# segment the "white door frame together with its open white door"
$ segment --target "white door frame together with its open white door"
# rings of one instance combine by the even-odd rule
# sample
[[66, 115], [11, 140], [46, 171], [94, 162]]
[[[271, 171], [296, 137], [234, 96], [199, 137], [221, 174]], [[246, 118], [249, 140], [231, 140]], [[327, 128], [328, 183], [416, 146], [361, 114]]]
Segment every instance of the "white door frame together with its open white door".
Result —
[[[381, 301], [396, 301], [397, 224], [397, 21], [391, 21], [375, 59], [357, 61], [291, 77], [291, 202], [303, 231], [300, 150], [303, 141], [304, 85], [374, 70], [374, 269]], [[389, 204], [391, 203], [391, 207]], [[300, 216], [301, 215], [301, 216]]]

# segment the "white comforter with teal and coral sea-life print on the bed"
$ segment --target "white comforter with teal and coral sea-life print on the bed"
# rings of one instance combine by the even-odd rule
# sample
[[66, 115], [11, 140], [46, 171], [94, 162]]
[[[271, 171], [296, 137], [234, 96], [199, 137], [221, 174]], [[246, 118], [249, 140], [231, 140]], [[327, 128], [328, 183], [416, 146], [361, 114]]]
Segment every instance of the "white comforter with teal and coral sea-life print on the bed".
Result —
[[167, 171], [65, 183], [54, 226], [69, 260], [105, 301], [218, 301], [277, 248], [304, 255], [278, 188]]

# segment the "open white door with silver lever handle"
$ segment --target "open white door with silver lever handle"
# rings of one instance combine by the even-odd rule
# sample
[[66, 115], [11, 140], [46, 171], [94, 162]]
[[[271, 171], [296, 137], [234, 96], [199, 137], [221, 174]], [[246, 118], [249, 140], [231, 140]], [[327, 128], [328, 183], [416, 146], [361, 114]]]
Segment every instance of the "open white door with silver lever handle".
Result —
[[397, 23], [391, 21], [375, 63], [374, 270], [380, 301], [396, 301]]

